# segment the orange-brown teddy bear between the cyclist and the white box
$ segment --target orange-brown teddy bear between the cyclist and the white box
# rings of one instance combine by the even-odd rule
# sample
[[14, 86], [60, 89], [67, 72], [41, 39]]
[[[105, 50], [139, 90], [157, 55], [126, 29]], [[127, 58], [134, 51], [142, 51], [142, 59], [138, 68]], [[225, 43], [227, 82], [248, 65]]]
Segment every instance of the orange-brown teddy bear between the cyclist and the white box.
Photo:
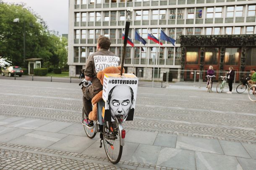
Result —
[[[101, 84], [103, 85], [103, 79], [104, 79], [104, 74], [120, 74], [121, 66], [110, 66], [105, 68], [102, 71], [99, 71], [97, 73], [97, 78], [100, 80]], [[123, 73], [125, 72], [125, 69], [123, 69]], [[89, 119], [90, 120], [98, 120], [97, 116], [97, 102], [102, 100], [102, 91], [99, 91], [98, 94], [96, 94], [92, 99], [91, 99], [91, 104], [93, 105], [92, 111], [89, 113]]]

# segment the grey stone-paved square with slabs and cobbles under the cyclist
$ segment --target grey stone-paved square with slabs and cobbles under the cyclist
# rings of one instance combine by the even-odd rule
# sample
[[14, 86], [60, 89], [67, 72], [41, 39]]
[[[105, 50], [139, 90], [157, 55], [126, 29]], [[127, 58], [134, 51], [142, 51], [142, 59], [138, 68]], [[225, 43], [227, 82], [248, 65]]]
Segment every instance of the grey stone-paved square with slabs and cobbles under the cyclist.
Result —
[[117, 165], [99, 134], [86, 137], [78, 84], [1, 79], [0, 96], [1, 170], [256, 167], [256, 105], [246, 93], [139, 87]]

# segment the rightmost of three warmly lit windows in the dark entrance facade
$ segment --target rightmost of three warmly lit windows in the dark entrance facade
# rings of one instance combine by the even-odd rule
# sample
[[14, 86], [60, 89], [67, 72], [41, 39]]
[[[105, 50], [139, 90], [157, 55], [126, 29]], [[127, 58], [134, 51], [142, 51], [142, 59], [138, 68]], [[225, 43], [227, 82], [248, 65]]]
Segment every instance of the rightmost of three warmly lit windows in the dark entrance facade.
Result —
[[238, 65], [239, 48], [226, 48], [224, 63], [225, 65]]

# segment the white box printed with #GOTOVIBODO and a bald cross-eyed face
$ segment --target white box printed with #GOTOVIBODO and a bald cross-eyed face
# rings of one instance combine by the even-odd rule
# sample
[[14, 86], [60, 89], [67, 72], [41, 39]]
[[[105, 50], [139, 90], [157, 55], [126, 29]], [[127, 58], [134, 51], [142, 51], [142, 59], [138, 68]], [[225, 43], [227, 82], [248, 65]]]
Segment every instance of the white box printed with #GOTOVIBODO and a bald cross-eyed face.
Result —
[[104, 74], [104, 121], [114, 121], [115, 116], [123, 116], [124, 121], [133, 120], [137, 89], [138, 78], [134, 74]]

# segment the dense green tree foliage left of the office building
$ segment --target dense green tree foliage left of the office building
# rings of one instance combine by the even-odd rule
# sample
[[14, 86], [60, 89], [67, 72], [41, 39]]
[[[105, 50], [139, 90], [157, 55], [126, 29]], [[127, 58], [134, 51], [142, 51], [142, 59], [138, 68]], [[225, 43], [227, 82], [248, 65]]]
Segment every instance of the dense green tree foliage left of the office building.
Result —
[[[13, 20], [19, 18], [19, 22]], [[0, 56], [8, 56], [13, 65], [24, 63], [25, 58], [42, 58], [44, 66], [63, 68], [67, 65], [67, 40], [50, 32], [40, 16], [24, 4], [0, 1]]]

